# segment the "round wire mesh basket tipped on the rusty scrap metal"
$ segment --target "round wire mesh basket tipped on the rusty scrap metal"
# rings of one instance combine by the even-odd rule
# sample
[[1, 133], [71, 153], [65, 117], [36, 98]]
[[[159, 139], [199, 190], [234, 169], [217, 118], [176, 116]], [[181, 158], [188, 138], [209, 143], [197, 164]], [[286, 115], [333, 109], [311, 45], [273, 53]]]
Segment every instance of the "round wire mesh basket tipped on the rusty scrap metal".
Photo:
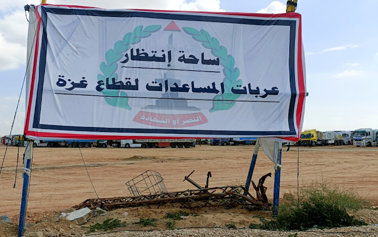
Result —
[[163, 177], [161, 177], [160, 173], [153, 170], [147, 170], [134, 179], [126, 182], [126, 186], [132, 196], [167, 192]]

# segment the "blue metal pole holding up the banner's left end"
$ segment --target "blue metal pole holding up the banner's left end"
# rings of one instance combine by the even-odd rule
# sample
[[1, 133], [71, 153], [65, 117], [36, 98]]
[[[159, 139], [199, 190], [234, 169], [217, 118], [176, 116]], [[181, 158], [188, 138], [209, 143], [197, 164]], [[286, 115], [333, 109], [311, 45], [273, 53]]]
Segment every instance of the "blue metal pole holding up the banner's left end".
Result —
[[24, 154], [24, 171], [23, 171], [24, 183], [22, 187], [22, 199], [21, 199], [20, 221], [19, 221], [19, 227], [18, 227], [18, 237], [21, 237], [22, 235], [24, 235], [26, 207], [28, 204], [32, 146], [33, 146], [33, 142], [27, 141], [26, 150]]

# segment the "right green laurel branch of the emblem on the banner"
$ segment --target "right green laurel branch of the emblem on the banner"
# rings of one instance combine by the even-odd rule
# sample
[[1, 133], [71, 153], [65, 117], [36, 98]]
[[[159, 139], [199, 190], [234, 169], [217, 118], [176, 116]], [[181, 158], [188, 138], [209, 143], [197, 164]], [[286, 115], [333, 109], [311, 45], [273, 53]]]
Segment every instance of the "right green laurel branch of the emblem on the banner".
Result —
[[198, 42], [202, 42], [202, 45], [211, 49], [211, 53], [219, 58], [220, 65], [223, 66], [223, 83], [224, 83], [224, 92], [223, 94], [216, 95], [213, 101], [213, 107], [209, 110], [210, 112], [215, 112], [219, 110], [227, 110], [234, 106], [235, 101], [239, 98], [240, 94], [234, 94], [231, 92], [231, 88], [238, 84], [241, 84], [241, 80], [237, 80], [240, 75], [240, 71], [235, 66], [235, 59], [232, 55], [227, 54], [227, 49], [224, 46], [219, 44], [219, 41], [211, 37], [210, 34], [205, 30], [196, 30], [191, 27], [183, 27], [183, 31], [191, 35], [193, 39]]

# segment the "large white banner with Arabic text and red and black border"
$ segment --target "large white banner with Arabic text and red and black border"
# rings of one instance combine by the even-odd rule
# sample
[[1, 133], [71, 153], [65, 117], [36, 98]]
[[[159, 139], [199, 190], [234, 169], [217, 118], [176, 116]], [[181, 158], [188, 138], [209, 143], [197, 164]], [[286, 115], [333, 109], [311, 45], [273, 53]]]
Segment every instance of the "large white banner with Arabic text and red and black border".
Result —
[[298, 140], [299, 14], [35, 9], [29, 138]]

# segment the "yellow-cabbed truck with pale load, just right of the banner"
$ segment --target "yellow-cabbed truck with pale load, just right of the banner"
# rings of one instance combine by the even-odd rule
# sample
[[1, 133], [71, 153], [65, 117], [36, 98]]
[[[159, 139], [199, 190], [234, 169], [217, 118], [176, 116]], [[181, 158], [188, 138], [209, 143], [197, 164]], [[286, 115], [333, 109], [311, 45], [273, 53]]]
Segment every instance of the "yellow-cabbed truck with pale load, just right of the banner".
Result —
[[304, 130], [300, 135], [300, 146], [344, 145], [343, 137], [335, 131], [320, 132], [316, 129]]

